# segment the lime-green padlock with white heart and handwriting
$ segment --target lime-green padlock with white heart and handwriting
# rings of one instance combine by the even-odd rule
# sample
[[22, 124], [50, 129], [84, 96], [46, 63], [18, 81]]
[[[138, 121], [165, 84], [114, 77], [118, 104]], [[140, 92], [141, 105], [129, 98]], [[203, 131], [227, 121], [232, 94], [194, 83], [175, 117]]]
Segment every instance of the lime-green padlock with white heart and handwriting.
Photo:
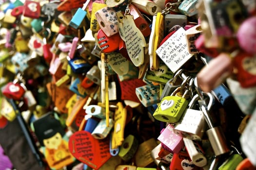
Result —
[[177, 89], [172, 93], [171, 96], [165, 96], [161, 100], [158, 108], [153, 114], [155, 119], [164, 122], [177, 122], [181, 118], [185, 109], [188, 106], [186, 96], [189, 90], [185, 90], [182, 95], [180, 94], [180, 90], [181, 87], [177, 87]]

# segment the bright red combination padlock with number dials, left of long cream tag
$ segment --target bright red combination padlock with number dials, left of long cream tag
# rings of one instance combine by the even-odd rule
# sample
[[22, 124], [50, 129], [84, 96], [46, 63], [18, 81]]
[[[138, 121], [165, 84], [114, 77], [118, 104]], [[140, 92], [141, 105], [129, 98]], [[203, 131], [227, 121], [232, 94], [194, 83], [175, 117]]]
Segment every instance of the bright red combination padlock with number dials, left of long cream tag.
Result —
[[104, 53], [118, 50], [119, 42], [122, 40], [119, 34], [108, 37], [101, 29], [98, 30], [97, 38], [99, 47]]

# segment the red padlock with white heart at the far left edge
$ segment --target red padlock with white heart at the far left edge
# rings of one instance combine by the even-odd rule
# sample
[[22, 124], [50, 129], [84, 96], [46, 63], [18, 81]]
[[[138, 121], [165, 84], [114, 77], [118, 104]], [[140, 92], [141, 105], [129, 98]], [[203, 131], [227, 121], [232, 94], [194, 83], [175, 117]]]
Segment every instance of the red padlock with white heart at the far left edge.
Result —
[[24, 93], [25, 89], [19, 83], [9, 82], [2, 88], [2, 94], [9, 99], [20, 100]]

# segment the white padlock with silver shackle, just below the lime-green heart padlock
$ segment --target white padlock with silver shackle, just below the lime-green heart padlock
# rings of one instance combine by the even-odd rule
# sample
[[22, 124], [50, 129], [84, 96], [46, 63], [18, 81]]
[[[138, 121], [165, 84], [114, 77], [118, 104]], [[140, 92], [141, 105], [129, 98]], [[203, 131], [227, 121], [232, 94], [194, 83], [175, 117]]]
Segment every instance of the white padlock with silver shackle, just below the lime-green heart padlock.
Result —
[[[179, 136], [186, 137], [191, 140], [202, 140], [206, 130], [206, 122], [203, 113], [199, 110], [192, 109], [195, 103], [199, 100], [199, 95], [196, 94], [188, 104], [188, 109], [176, 123], [174, 133]], [[210, 98], [207, 109], [210, 110], [214, 103], [213, 98]], [[192, 123], [193, 122], [193, 123]]]

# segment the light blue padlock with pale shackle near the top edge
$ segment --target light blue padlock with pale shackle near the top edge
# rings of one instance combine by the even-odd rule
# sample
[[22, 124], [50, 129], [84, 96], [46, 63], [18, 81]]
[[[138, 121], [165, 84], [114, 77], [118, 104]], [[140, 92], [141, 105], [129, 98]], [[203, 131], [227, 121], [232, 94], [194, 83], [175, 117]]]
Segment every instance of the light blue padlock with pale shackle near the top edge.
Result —
[[86, 0], [85, 3], [83, 4], [82, 8], [78, 8], [76, 11], [75, 15], [72, 17], [71, 21], [69, 22], [69, 25], [75, 29], [78, 29], [79, 26], [81, 25], [84, 17], [86, 16], [87, 12], [85, 9], [87, 8], [90, 0]]

